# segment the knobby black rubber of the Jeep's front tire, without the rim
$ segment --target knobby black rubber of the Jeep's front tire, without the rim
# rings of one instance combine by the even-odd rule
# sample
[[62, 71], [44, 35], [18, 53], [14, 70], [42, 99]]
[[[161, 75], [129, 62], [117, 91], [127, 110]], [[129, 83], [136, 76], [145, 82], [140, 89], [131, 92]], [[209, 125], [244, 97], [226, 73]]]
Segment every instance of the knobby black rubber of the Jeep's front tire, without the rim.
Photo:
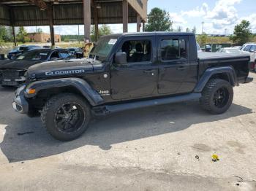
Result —
[[[77, 104], [80, 106], [81, 112], [83, 112], [83, 123], [75, 132], [63, 133], [57, 128], [56, 114], [59, 111], [59, 108], [64, 106], [64, 104]], [[89, 122], [91, 120], [91, 108], [87, 101], [81, 98], [79, 95], [62, 93], [53, 96], [46, 102], [41, 111], [41, 120], [42, 125], [55, 139], [60, 141], [71, 141], [73, 139], [77, 139], [89, 127]]]

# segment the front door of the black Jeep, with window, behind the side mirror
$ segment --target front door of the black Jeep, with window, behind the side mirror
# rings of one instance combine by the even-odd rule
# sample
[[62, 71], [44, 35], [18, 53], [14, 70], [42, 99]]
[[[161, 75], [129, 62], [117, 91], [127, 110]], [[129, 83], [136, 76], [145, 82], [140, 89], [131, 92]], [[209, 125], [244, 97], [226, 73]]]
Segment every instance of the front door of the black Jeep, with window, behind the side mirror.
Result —
[[113, 63], [110, 67], [113, 99], [145, 98], [157, 91], [158, 69], [152, 47], [155, 47], [154, 36], [132, 37], [121, 42], [118, 52], [127, 53], [127, 63]]

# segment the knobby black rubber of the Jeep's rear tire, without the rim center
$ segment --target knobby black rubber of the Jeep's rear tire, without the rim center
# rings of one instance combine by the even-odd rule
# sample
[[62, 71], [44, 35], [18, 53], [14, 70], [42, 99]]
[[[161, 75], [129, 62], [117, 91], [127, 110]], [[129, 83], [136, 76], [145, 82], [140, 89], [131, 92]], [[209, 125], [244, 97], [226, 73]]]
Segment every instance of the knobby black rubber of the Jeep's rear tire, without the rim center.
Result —
[[[214, 95], [217, 90], [223, 89], [227, 92], [228, 97], [225, 104], [218, 107], [214, 104]], [[222, 114], [230, 108], [233, 101], [233, 87], [230, 82], [223, 79], [210, 79], [206, 87], [203, 88], [202, 97], [200, 98], [200, 106], [211, 114]]]

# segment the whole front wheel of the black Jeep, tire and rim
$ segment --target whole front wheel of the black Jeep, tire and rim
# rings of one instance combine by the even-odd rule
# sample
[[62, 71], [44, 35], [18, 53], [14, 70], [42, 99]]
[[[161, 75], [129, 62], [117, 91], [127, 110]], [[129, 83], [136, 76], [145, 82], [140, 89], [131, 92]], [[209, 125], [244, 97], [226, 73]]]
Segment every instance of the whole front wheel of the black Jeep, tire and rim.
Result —
[[41, 112], [42, 124], [60, 141], [78, 138], [88, 128], [91, 109], [83, 98], [71, 93], [53, 96]]

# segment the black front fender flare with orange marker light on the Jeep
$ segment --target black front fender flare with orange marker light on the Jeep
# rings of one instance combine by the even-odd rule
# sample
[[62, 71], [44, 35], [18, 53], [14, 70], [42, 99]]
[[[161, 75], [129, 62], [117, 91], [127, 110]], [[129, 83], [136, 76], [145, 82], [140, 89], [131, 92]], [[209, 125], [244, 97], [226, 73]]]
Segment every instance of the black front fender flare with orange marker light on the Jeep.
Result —
[[[62, 79], [46, 79], [42, 81], [32, 82], [26, 87], [25, 97], [32, 98], [40, 90], [47, 90], [50, 88], [58, 87], [75, 87], [82, 95], [89, 101], [91, 106], [97, 106], [103, 104], [104, 100], [99, 95], [99, 93], [91, 88], [91, 86], [84, 80], [80, 78], [62, 78]], [[29, 89], [34, 89], [35, 93], [28, 93]]]

